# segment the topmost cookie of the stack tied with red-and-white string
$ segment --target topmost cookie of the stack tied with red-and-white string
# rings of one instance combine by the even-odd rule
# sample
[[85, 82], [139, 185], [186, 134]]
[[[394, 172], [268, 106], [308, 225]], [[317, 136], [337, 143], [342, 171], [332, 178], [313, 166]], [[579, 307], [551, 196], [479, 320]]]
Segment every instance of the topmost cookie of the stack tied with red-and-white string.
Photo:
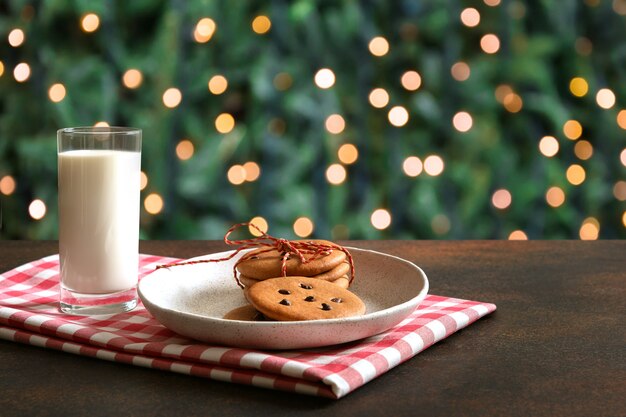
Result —
[[[299, 240], [296, 242], [314, 242], [336, 248], [336, 245], [327, 240]], [[268, 279], [282, 275], [282, 254], [276, 249], [255, 249], [246, 255], [248, 259], [239, 262], [237, 270], [245, 276], [254, 279]], [[337, 267], [346, 259], [346, 254], [340, 249], [333, 249], [326, 256], [307, 263], [302, 263], [299, 257], [291, 254], [287, 260], [287, 275], [306, 276], [322, 274]]]

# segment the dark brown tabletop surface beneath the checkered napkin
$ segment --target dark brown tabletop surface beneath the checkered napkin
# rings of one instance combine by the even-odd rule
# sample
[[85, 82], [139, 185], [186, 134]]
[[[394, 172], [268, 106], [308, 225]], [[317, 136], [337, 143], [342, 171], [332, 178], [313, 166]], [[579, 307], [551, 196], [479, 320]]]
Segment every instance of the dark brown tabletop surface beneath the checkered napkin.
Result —
[[[624, 416], [626, 241], [351, 241], [421, 266], [430, 293], [498, 310], [340, 400], [0, 340], [2, 416]], [[188, 258], [217, 241], [142, 241]], [[0, 241], [0, 272], [57, 252]]]

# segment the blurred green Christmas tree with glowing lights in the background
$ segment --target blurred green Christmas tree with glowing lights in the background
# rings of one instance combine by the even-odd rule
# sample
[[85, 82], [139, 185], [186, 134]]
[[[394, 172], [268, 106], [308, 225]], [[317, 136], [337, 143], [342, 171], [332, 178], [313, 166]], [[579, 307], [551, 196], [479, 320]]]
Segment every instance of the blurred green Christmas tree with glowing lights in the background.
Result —
[[0, 3], [3, 238], [55, 131], [144, 130], [142, 234], [624, 238], [626, 0]]

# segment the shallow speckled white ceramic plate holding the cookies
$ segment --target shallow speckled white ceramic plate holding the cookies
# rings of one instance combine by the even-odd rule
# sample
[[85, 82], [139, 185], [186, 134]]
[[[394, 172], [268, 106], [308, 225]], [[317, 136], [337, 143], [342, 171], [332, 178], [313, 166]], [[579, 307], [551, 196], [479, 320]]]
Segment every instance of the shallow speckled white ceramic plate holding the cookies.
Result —
[[[140, 281], [139, 296], [161, 324], [210, 344], [301, 349], [351, 342], [384, 332], [405, 319], [426, 296], [428, 279], [404, 259], [349, 250], [356, 269], [350, 290], [365, 302], [363, 316], [295, 322], [225, 320], [222, 317], [228, 311], [247, 304], [233, 277], [237, 258], [158, 269]], [[230, 253], [193, 259], [218, 259]]]

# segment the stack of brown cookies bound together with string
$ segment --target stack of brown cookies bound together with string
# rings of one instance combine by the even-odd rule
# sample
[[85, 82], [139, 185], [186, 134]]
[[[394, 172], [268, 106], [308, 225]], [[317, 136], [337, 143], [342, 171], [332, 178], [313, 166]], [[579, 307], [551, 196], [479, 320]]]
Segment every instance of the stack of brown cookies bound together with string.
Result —
[[[308, 240], [307, 242], [333, 246], [326, 240]], [[246, 259], [237, 264], [239, 281], [245, 287], [251, 287], [260, 281], [282, 276], [282, 260], [284, 253], [276, 249], [256, 249]], [[289, 255], [287, 260], [287, 276], [302, 276], [332, 282], [342, 288], [350, 285], [350, 264], [345, 252], [336, 249], [328, 255], [320, 256], [307, 263], [302, 263], [297, 256]]]

